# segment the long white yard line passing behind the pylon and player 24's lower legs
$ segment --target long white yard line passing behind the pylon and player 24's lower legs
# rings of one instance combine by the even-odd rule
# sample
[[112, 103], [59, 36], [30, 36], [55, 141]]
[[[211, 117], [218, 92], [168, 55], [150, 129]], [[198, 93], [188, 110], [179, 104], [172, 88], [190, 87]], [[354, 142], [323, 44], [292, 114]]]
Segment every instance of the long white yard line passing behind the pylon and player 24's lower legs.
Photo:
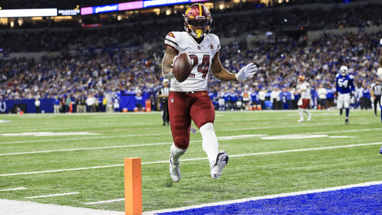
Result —
[[[230, 155], [230, 157], [242, 157], [242, 156], [253, 156], [253, 155], [268, 155], [268, 154], [285, 153], [285, 152], [323, 150], [323, 149], [332, 149], [332, 148], [347, 148], [347, 147], [357, 147], [357, 146], [367, 146], [367, 145], [380, 145], [380, 144], [382, 144], [382, 142], [377, 142], [377, 143], [361, 143], [361, 144], [341, 145], [341, 146], [331, 146], [331, 147], [319, 147], [319, 148], [303, 148], [303, 149], [293, 149], [293, 150], [285, 150], [285, 151], [269, 151], [269, 152], [259, 152], [259, 153], [242, 154], [242, 155]], [[190, 159], [182, 159], [182, 161], [194, 161], [194, 160], [206, 160], [206, 159], [207, 158], [190, 158]], [[168, 160], [146, 162], [146, 163], [141, 163], [141, 165], [144, 165], [144, 164], [153, 164], [153, 163], [168, 163]], [[92, 167], [82, 167], [82, 168], [73, 168], [73, 169], [55, 169], [55, 170], [27, 172], [27, 173], [2, 174], [0, 176], [15, 176], [15, 175], [37, 174], [37, 173], [52, 173], [52, 172], [62, 172], [62, 171], [82, 170], [82, 169], [98, 169], [98, 168], [108, 168], [108, 167], [114, 167], [114, 166], [124, 166], [124, 165], [123, 164], [116, 164], [116, 165], [108, 165], [108, 166], [92, 166]]]

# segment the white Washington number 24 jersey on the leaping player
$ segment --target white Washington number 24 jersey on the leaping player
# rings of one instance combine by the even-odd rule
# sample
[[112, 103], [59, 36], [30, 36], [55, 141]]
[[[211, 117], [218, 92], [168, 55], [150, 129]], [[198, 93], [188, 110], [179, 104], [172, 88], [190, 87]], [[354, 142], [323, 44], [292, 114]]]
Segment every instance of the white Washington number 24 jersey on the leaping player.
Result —
[[208, 73], [212, 59], [220, 50], [219, 37], [215, 34], [207, 34], [200, 44], [187, 32], [173, 31], [167, 34], [165, 46], [175, 49], [178, 54], [187, 53], [191, 58], [193, 69], [189, 77], [179, 83], [175, 78], [171, 79], [170, 91], [194, 92], [207, 90]]

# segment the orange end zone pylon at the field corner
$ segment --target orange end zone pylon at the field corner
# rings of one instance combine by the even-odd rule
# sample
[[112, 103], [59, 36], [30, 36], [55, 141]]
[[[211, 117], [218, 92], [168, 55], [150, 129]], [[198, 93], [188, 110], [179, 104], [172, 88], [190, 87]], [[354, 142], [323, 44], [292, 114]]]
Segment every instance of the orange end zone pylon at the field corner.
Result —
[[141, 158], [125, 158], [125, 215], [142, 214]]

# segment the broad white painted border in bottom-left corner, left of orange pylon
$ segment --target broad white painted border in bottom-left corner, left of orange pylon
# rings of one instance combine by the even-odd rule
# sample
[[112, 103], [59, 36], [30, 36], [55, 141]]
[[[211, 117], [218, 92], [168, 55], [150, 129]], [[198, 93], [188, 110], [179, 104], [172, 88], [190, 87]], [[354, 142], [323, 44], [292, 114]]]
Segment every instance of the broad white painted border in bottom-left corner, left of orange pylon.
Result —
[[4, 215], [125, 215], [125, 212], [0, 199]]

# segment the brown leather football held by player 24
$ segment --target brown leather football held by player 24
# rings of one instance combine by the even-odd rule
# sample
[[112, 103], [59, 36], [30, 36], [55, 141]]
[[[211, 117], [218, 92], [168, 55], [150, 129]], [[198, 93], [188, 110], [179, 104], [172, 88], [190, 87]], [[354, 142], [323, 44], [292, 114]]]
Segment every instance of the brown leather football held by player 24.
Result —
[[192, 68], [193, 66], [190, 57], [188, 54], [182, 53], [175, 59], [172, 72], [178, 82], [183, 82], [191, 74]]

